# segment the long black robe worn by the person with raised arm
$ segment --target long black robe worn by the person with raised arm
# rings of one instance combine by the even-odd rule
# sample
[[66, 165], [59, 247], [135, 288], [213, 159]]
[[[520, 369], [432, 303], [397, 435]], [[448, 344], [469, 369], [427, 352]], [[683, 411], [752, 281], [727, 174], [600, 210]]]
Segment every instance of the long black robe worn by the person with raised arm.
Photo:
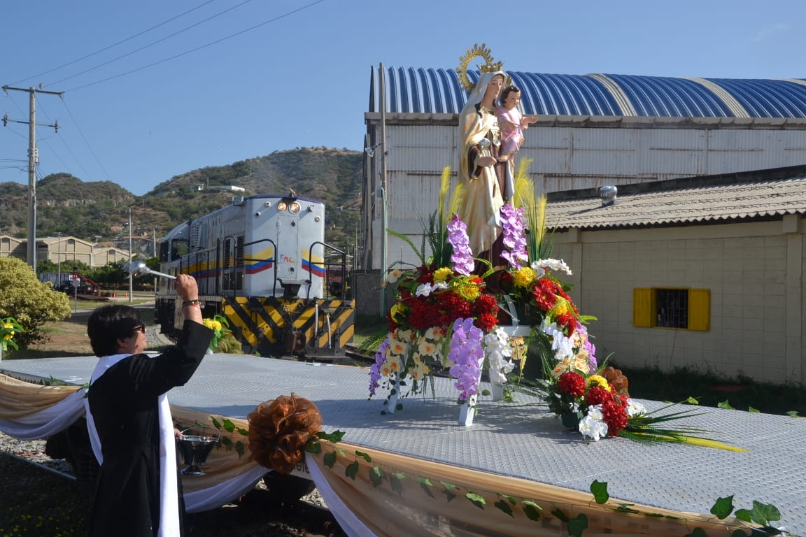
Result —
[[[152, 537], [160, 527], [160, 416], [157, 398], [182, 386], [202, 362], [213, 332], [185, 321], [177, 345], [133, 354], [89, 388], [103, 464], [95, 489], [93, 537]], [[180, 508], [184, 503], [181, 502]], [[181, 524], [182, 514], [180, 514]]]

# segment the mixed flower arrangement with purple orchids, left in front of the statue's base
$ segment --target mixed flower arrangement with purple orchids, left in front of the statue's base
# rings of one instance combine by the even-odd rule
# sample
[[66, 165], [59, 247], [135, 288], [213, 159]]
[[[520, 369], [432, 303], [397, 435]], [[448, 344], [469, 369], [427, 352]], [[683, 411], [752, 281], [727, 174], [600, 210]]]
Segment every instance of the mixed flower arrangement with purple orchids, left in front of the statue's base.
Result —
[[447, 370], [459, 403], [467, 403], [478, 394], [485, 365], [501, 380], [513, 370], [508, 337], [498, 326], [498, 298], [484, 282], [492, 271], [478, 274], [481, 261], [473, 258], [467, 226], [442, 210], [449, 185], [450, 168], [445, 168], [439, 209], [426, 227], [430, 258], [389, 230], [412, 246], [421, 265], [398, 264], [388, 271], [386, 283], [396, 286], [396, 300], [370, 368], [370, 397], [381, 386], [389, 389], [389, 398], [421, 393], [429, 380], [433, 389], [434, 371]]

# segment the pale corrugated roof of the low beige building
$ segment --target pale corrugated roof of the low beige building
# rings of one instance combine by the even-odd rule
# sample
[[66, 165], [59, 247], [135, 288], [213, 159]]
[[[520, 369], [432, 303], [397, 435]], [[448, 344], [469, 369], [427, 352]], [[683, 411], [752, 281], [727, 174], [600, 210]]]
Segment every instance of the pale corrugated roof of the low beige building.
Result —
[[615, 203], [605, 206], [594, 190], [587, 197], [578, 192], [573, 199], [550, 200], [546, 222], [558, 229], [596, 229], [806, 214], [806, 175], [683, 188], [664, 183], [620, 186]]

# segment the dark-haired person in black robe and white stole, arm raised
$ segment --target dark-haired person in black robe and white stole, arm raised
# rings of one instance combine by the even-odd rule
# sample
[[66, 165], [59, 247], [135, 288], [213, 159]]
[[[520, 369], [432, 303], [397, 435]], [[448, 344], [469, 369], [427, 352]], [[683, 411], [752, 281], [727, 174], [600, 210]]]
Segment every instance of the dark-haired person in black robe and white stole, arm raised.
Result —
[[185, 323], [177, 345], [143, 353], [145, 326], [135, 308], [110, 305], [89, 317], [87, 334], [99, 357], [87, 396], [87, 426], [101, 469], [92, 537], [184, 535], [184, 502], [166, 392], [193, 376], [213, 337], [202, 324], [196, 280], [179, 275]]

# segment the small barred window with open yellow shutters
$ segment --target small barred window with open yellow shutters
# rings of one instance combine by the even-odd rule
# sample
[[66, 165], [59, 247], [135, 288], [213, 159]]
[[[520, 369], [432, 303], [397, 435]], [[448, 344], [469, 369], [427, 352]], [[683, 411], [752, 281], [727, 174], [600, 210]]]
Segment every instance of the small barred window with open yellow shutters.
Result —
[[710, 329], [711, 291], [675, 287], [633, 290], [633, 325], [645, 328]]

